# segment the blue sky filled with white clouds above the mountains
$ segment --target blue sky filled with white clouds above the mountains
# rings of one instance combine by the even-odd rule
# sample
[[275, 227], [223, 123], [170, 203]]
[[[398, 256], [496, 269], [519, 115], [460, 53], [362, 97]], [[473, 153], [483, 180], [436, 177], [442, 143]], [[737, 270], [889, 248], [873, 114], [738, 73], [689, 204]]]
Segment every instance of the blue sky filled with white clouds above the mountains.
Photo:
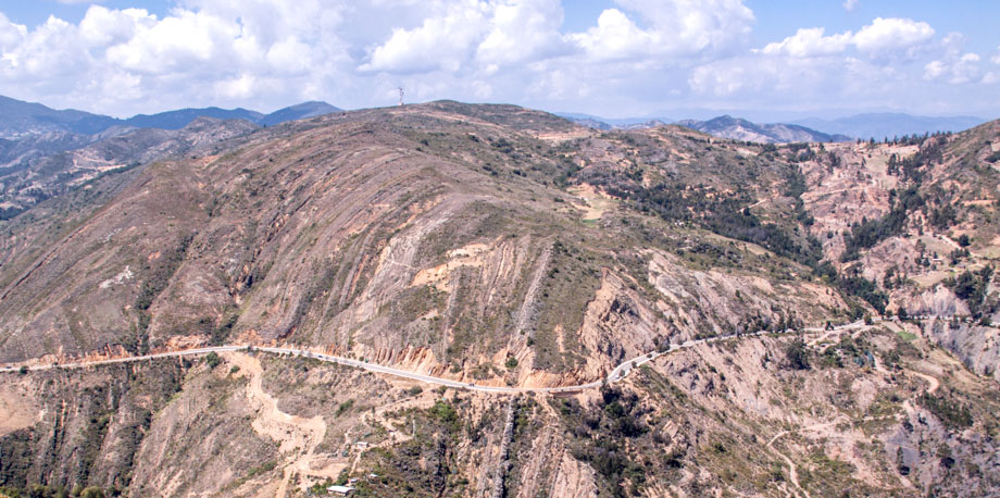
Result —
[[989, 0], [0, 0], [0, 95], [129, 116], [453, 99], [1000, 117]]

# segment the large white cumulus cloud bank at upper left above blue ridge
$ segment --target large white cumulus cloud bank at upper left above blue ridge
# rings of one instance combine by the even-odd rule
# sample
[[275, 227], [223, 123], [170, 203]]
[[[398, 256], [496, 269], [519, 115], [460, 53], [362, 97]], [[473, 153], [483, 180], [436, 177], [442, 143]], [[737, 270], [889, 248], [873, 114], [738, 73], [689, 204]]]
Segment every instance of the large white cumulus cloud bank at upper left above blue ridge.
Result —
[[[127, 114], [323, 97], [349, 72], [333, 1], [187, 0], [158, 17], [90, 5], [28, 29], [0, 14], [0, 94]], [[101, 107], [101, 108], [99, 108]]]

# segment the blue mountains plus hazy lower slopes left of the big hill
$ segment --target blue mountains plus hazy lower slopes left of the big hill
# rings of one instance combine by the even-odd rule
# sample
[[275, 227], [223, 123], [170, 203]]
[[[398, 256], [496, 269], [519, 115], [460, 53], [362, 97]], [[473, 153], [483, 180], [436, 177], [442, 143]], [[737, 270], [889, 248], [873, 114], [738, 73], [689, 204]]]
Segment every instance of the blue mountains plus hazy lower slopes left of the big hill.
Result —
[[122, 167], [207, 149], [287, 121], [338, 112], [303, 102], [271, 114], [180, 109], [126, 120], [0, 97], [0, 220]]

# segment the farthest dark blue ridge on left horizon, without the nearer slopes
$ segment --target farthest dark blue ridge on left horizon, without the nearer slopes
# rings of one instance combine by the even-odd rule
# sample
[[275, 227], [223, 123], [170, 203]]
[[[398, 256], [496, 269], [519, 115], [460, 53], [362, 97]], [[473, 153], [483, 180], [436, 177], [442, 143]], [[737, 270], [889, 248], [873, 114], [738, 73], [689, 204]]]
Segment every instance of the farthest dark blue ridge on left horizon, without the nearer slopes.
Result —
[[139, 114], [126, 120], [76, 110], [54, 110], [40, 103], [24, 102], [0, 96], [0, 138], [18, 138], [45, 133], [72, 133], [97, 135], [110, 128], [180, 129], [198, 117], [217, 120], [246, 120], [262, 126], [273, 126], [286, 121], [339, 112], [326, 102], [303, 102], [279, 109], [271, 114], [247, 109], [179, 109], [158, 114]]

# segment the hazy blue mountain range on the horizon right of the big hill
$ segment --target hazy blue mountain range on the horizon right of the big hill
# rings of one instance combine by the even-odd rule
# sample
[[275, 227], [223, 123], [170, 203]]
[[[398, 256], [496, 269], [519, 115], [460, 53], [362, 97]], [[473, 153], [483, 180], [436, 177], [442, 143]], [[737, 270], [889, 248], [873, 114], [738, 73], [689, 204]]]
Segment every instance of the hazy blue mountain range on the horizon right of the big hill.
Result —
[[759, 124], [748, 120], [717, 116], [708, 121], [665, 117], [604, 119], [582, 113], [558, 113], [577, 124], [595, 129], [632, 129], [661, 124], [677, 124], [708, 133], [721, 138], [758, 142], [785, 144], [791, 141], [846, 141], [857, 138], [868, 139], [923, 135], [935, 132], [961, 132], [985, 123], [975, 116], [914, 116], [901, 113], [867, 113], [835, 120], [807, 117], [789, 123]]

